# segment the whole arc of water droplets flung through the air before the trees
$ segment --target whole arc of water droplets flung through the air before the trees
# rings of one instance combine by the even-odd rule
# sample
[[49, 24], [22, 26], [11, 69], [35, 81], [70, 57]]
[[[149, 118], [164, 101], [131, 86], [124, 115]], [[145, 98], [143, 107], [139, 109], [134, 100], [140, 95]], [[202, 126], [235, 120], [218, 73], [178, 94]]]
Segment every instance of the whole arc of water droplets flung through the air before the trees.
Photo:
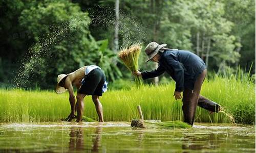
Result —
[[[103, 35], [100, 39], [107, 38], [111, 41], [114, 36], [112, 31], [115, 26], [115, 15], [111, 15], [113, 13], [114, 8], [104, 7], [104, 9], [102, 9], [101, 7], [98, 11], [92, 13], [92, 15], [89, 14], [91, 17], [90, 31], [103, 30]], [[50, 74], [49, 78], [54, 78], [55, 72], [53, 72], [53, 67], [55, 65], [51, 65], [48, 59], [59, 58], [55, 54], [55, 47], [62, 40], [69, 39], [71, 43], [76, 37], [74, 31], [76, 31], [77, 27], [79, 28], [78, 25], [81, 24], [84, 24], [84, 18], [72, 17], [68, 22], [59, 25], [51, 25], [49, 28], [51, 29], [51, 33], [43, 35], [36, 44], [29, 48], [28, 53], [24, 55], [21, 62], [22, 64], [19, 66], [16, 77], [14, 77], [13, 80], [16, 87], [29, 88], [36, 86], [33, 80], [34, 82], [54, 82], [53, 79], [46, 81], [41, 78], [41, 76], [45, 74]], [[109, 32], [106, 32], [106, 30]], [[145, 39], [145, 29], [137, 19], [120, 11], [119, 38], [119, 43], [121, 44], [119, 48], [129, 46], [133, 43], [140, 43]], [[68, 54], [68, 56], [69, 55], [70, 54]], [[65, 55], [63, 55], [63, 57], [64, 56]], [[56, 71], [64, 71], [59, 67], [54, 67], [54, 69]], [[46, 76], [44, 76], [44, 78], [46, 78]], [[41, 85], [39, 86], [41, 87]]]

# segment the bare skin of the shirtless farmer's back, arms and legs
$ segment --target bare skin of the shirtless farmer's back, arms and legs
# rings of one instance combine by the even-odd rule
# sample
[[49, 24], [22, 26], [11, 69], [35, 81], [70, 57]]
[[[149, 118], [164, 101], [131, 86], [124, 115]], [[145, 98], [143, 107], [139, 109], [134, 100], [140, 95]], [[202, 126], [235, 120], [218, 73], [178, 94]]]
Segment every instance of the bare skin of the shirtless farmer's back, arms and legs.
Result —
[[[86, 94], [77, 93], [76, 97], [74, 95], [73, 85], [77, 88], [77, 90], [81, 87], [81, 80], [85, 77], [84, 71], [86, 66], [77, 69], [76, 71], [69, 73], [68, 77], [65, 81], [59, 83], [60, 86], [68, 89], [69, 91], [69, 102], [71, 107], [71, 113], [69, 114], [67, 121], [71, 121], [72, 119], [76, 118], [77, 122], [82, 121], [82, 114], [83, 114], [83, 98]], [[99, 101], [98, 95], [92, 95], [92, 100], [95, 105], [97, 114], [99, 116], [99, 121], [103, 122], [103, 111], [102, 105]], [[75, 112], [77, 112], [77, 116], [75, 116]]]

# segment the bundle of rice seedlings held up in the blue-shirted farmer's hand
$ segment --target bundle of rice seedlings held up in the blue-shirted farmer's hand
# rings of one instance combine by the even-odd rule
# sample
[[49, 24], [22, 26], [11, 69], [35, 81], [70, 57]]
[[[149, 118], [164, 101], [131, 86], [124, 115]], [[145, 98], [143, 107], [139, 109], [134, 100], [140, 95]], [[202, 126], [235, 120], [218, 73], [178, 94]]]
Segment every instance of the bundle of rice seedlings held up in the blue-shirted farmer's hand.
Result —
[[[118, 58], [130, 71], [137, 71], [139, 69], [139, 55], [141, 51], [141, 44], [133, 44], [130, 47], [121, 48]], [[142, 85], [141, 78], [135, 76], [135, 82], [138, 86]]]

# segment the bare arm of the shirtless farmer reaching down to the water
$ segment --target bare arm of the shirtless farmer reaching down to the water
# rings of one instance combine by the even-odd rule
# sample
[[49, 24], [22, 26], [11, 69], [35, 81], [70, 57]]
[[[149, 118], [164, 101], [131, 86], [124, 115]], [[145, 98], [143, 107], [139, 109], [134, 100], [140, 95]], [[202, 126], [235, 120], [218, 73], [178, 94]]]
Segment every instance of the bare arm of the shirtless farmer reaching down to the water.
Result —
[[75, 99], [75, 95], [74, 95], [73, 86], [72, 86], [72, 84], [69, 80], [66, 80], [65, 86], [69, 91], [69, 103], [70, 103], [70, 107], [71, 107], [71, 113], [68, 116], [68, 121], [71, 121], [74, 118], [74, 115], [75, 115], [76, 99]]

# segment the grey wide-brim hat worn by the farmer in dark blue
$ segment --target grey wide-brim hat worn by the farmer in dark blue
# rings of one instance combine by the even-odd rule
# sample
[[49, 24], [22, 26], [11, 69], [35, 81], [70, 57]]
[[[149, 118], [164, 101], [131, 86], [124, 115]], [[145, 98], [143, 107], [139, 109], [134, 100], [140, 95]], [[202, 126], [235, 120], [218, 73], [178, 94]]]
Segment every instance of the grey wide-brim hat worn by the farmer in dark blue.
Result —
[[152, 58], [154, 58], [157, 53], [159, 52], [159, 50], [163, 47], [167, 46], [166, 43], [164, 44], [158, 44], [157, 42], [153, 41], [149, 44], [146, 45], [145, 47], [145, 52], [146, 55], [148, 56], [148, 59], [146, 60], [146, 62], [150, 61]]

